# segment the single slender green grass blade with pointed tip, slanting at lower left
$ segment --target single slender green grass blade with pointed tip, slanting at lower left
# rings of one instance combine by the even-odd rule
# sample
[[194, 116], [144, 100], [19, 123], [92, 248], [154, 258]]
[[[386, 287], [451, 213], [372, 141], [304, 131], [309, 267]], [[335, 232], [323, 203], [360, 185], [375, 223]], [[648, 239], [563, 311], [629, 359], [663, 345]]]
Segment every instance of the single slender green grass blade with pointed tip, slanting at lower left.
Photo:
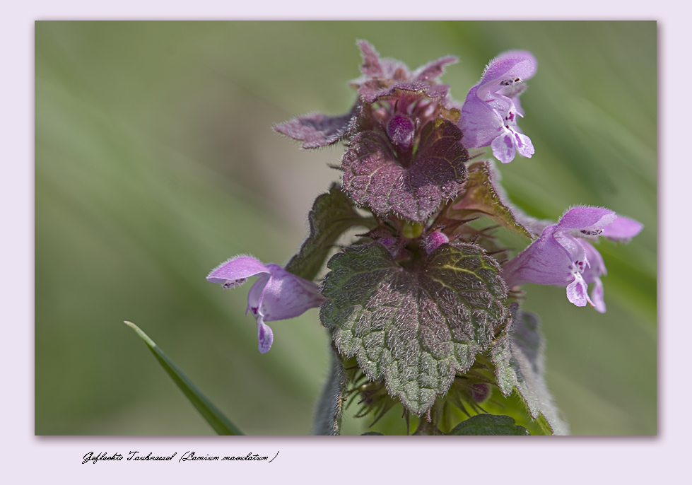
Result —
[[135, 332], [137, 332], [146, 346], [148, 346], [149, 350], [151, 350], [151, 353], [154, 354], [154, 357], [156, 357], [158, 363], [161, 364], [166, 373], [170, 375], [173, 382], [175, 382], [177, 387], [180, 387], [180, 390], [182, 390], [185, 397], [189, 399], [189, 402], [192, 402], [195, 409], [199, 411], [199, 414], [206, 419], [206, 422], [209, 423], [209, 426], [211, 426], [217, 434], [229, 436], [238, 436], [243, 434], [242, 431], [235, 427], [235, 424], [231, 423], [230, 420], [224, 416], [223, 413], [219, 411], [218, 408], [214, 406], [213, 403], [207, 399], [199, 389], [197, 389], [197, 386], [187, 378], [187, 375], [182, 373], [182, 370], [180, 370], [175, 363], [173, 363], [170, 358], [168, 358], [168, 356], [158, 348], [158, 345], [156, 345], [147, 334], [142, 332], [139, 327], [134, 325], [134, 323], [125, 323], [134, 329]]

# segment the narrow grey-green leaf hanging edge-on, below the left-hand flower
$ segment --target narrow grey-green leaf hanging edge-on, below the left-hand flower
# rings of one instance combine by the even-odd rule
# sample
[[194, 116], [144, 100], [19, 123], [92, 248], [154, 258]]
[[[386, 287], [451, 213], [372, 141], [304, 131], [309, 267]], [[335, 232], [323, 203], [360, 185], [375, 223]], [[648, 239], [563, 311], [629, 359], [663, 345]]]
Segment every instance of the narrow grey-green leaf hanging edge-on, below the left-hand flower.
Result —
[[344, 392], [348, 382], [341, 358], [336, 350], [332, 351], [332, 370], [322, 390], [322, 396], [315, 410], [315, 428], [313, 435], [338, 435], [341, 433], [341, 411], [344, 404]]

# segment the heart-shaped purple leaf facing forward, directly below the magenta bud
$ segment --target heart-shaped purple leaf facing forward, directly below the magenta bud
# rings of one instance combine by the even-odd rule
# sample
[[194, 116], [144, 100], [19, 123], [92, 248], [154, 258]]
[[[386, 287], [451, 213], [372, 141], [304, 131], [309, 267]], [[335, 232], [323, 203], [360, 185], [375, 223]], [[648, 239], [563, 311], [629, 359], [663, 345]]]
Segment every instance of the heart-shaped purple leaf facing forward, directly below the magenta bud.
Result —
[[344, 189], [358, 204], [377, 212], [394, 212], [425, 222], [442, 201], [455, 197], [466, 174], [469, 155], [462, 134], [447, 119], [423, 127], [412, 160], [397, 152], [380, 132], [360, 132], [341, 160]]

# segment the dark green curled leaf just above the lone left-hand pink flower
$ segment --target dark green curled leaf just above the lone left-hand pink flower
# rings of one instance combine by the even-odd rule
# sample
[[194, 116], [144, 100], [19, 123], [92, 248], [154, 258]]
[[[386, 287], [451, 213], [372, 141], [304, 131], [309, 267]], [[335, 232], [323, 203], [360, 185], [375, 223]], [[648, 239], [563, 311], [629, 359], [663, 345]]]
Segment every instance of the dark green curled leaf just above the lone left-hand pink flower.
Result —
[[286, 271], [310, 281], [315, 279], [329, 251], [345, 230], [353, 226], [369, 229], [376, 226], [373, 218], [358, 215], [351, 200], [336, 183], [329, 187], [329, 192], [315, 199], [307, 218], [310, 221], [310, 235], [298, 254], [286, 264]]

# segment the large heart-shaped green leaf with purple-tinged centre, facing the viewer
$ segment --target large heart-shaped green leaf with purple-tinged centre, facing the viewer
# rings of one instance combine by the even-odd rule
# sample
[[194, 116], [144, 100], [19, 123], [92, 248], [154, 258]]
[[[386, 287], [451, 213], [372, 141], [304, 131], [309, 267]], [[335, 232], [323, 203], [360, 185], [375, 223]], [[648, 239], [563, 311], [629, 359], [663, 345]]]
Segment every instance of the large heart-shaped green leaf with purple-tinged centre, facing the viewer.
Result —
[[509, 318], [500, 267], [471, 244], [445, 244], [399, 266], [380, 243], [346, 247], [327, 264], [322, 325], [342, 355], [420, 415]]

